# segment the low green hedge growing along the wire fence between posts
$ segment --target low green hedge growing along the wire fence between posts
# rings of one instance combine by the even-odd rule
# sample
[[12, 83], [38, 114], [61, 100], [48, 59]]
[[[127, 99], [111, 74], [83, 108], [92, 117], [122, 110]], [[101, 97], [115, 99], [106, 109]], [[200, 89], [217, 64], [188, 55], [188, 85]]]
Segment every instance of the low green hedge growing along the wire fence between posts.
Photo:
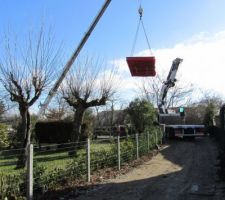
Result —
[[[151, 128], [149, 129], [149, 149], [146, 134], [139, 134], [139, 155], [143, 156], [149, 153], [149, 150], [155, 148], [156, 142], [161, 139], [161, 129]], [[157, 134], [157, 137], [156, 137]], [[156, 141], [157, 140], [157, 141]], [[117, 142], [115, 140], [110, 141], [93, 141], [91, 144], [91, 172], [107, 167], [117, 166]], [[67, 149], [68, 150], [68, 149]], [[46, 160], [50, 158], [51, 154], [42, 157]], [[64, 152], [67, 155], [66, 152]], [[121, 164], [129, 163], [136, 159], [136, 140], [135, 136], [123, 137], [120, 140], [120, 155]], [[66, 185], [71, 180], [80, 180], [86, 177], [86, 151], [85, 149], [79, 149], [77, 154], [69, 159], [57, 159], [56, 160], [38, 162], [38, 156], [34, 162], [34, 196], [40, 197], [46, 191], [54, 191], [62, 185]], [[54, 158], [54, 157], [51, 157]], [[51, 159], [50, 159], [51, 160]], [[38, 162], [38, 163], [37, 163]], [[54, 163], [54, 167], [50, 167]], [[1, 198], [15, 196], [14, 199], [19, 199], [25, 195], [26, 191], [26, 175], [24, 172], [16, 175], [0, 175], [0, 196]]]

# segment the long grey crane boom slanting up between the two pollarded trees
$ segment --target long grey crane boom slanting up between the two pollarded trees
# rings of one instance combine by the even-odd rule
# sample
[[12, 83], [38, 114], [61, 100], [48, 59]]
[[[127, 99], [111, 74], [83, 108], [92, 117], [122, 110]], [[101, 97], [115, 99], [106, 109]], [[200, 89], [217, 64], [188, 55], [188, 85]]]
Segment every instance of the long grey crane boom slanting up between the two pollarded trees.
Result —
[[103, 13], [105, 12], [106, 8], [108, 7], [108, 5], [110, 3], [111, 3], [111, 0], [105, 0], [105, 3], [103, 4], [103, 6], [100, 9], [100, 11], [98, 12], [97, 16], [95, 17], [95, 19], [91, 23], [88, 31], [85, 33], [84, 37], [82, 38], [82, 40], [78, 44], [76, 50], [73, 52], [72, 56], [70, 57], [70, 59], [68, 60], [66, 65], [64, 66], [62, 74], [60, 75], [58, 80], [55, 82], [52, 89], [49, 91], [48, 96], [46, 97], [44, 103], [41, 105], [41, 108], [38, 112], [38, 118], [44, 113], [44, 111], [48, 107], [48, 104], [50, 103], [51, 99], [53, 98], [53, 96], [57, 92], [57, 90], [58, 90], [60, 84], [62, 83], [63, 79], [65, 78], [67, 72], [70, 70], [70, 68], [73, 65], [74, 61], [76, 60], [78, 54], [80, 53], [81, 49], [83, 48], [84, 44], [88, 40], [89, 36], [91, 35], [92, 31], [94, 30], [95, 26], [97, 25], [98, 21], [100, 20], [100, 18], [102, 17]]

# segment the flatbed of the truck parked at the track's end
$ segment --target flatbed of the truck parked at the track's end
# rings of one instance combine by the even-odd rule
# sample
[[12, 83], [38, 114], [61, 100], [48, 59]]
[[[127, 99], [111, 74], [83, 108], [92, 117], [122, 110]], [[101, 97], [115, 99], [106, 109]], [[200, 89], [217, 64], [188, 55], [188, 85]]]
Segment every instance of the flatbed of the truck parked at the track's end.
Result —
[[165, 125], [166, 138], [201, 137], [206, 135], [204, 125]]

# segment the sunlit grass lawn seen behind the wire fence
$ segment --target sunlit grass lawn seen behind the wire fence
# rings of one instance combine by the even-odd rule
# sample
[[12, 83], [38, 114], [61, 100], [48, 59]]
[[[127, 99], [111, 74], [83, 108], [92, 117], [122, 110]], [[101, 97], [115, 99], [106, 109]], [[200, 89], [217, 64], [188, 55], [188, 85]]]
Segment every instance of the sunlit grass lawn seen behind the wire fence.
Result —
[[[152, 140], [153, 138], [151, 138]], [[140, 148], [142, 145], [142, 142], [146, 143], [145, 138], [140, 138]], [[112, 143], [108, 140], [93, 140], [91, 141], [91, 152], [97, 153], [98, 151], [110, 151], [114, 145], [117, 145], [117, 143]], [[146, 145], [146, 144], [145, 144]], [[150, 144], [151, 146], [152, 144]], [[53, 145], [52, 145], [53, 146]], [[74, 159], [83, 159], [85, 162], [85, 145], [83, 145], [82, 149], [78, 149], [76, 152], [76, 156], [70, 156], [68, 154], [69, 151], [71, 151], [68, 147], [65, 148], [44, 148], [41, 150], [41, 152], [38, 152], [38, 149], [34, 150], [34, 162], [35, 164], [38, 164], [39, 166], [43, 166], [45, 168], [45, 173], [51, 173], [55, 169], [62, 169], [66, 170], [66, 168], [71, 164]], [[0, 152], [1, 153], [1, 152]], [[15, 169], [17, 157], [13, 155], [7, 155], [3, 156], [0, 155], [0, 174], [3, 175], [9, 175], [9, 174], [19, 174], [24, 169]]]

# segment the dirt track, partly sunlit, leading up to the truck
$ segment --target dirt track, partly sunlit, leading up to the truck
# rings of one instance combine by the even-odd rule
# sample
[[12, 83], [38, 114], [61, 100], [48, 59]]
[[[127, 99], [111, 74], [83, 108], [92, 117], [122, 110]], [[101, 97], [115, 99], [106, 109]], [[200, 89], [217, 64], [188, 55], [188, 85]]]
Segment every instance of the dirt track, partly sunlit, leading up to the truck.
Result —
[[209, 138], [177, 140], [152, 160], [78, 200], [221, 200], [216, 189], [215, 145]]

